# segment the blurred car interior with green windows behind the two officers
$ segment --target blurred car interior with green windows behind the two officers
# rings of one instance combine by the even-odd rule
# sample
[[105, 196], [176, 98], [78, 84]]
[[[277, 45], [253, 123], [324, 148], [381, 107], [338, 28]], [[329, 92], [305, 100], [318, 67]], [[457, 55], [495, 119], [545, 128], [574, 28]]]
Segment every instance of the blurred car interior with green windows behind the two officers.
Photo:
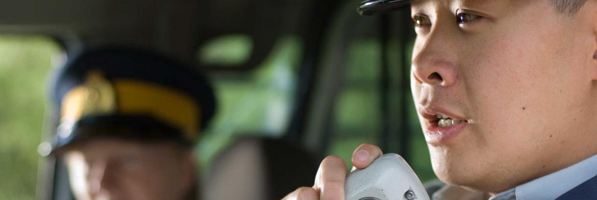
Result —
[[73, 199], [63, 161], [43, 143], [58, 121], [45, 106], [47, 80], [100, 45], [158, 51], [210, 79], [218, 106], [195, 147], [203, 199], [281, 199], [312, 186], [325, 156], [349, 164], [361, 143], [436, 179], [410, 93], [409, 8], [361, 16], [360, 0], [6, 3], [0, 199]]

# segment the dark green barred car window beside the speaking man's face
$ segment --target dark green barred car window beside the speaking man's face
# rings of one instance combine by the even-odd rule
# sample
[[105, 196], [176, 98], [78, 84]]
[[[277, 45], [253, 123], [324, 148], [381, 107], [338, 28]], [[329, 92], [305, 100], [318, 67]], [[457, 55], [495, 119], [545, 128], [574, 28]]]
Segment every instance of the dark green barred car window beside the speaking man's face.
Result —
[[337, 15], [306, 140], [322, 158], [338, 155], [350, 164], [353, 150], [371, 143], [401, 154], [421, 181], [436, 179], [410, 93], [409, 23], [409, 10], [362, 17], [349, 5]]

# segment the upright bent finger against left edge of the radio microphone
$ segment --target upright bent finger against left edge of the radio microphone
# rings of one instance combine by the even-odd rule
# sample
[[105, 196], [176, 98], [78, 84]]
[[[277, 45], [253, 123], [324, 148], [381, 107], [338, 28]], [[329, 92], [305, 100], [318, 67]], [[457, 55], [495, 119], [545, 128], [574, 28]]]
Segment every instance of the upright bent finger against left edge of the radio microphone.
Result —
[[328, 156], [321, 161], [313, 188], [319, 191], [320, 200], [343, 200], [346, 163], [338, 156]]

